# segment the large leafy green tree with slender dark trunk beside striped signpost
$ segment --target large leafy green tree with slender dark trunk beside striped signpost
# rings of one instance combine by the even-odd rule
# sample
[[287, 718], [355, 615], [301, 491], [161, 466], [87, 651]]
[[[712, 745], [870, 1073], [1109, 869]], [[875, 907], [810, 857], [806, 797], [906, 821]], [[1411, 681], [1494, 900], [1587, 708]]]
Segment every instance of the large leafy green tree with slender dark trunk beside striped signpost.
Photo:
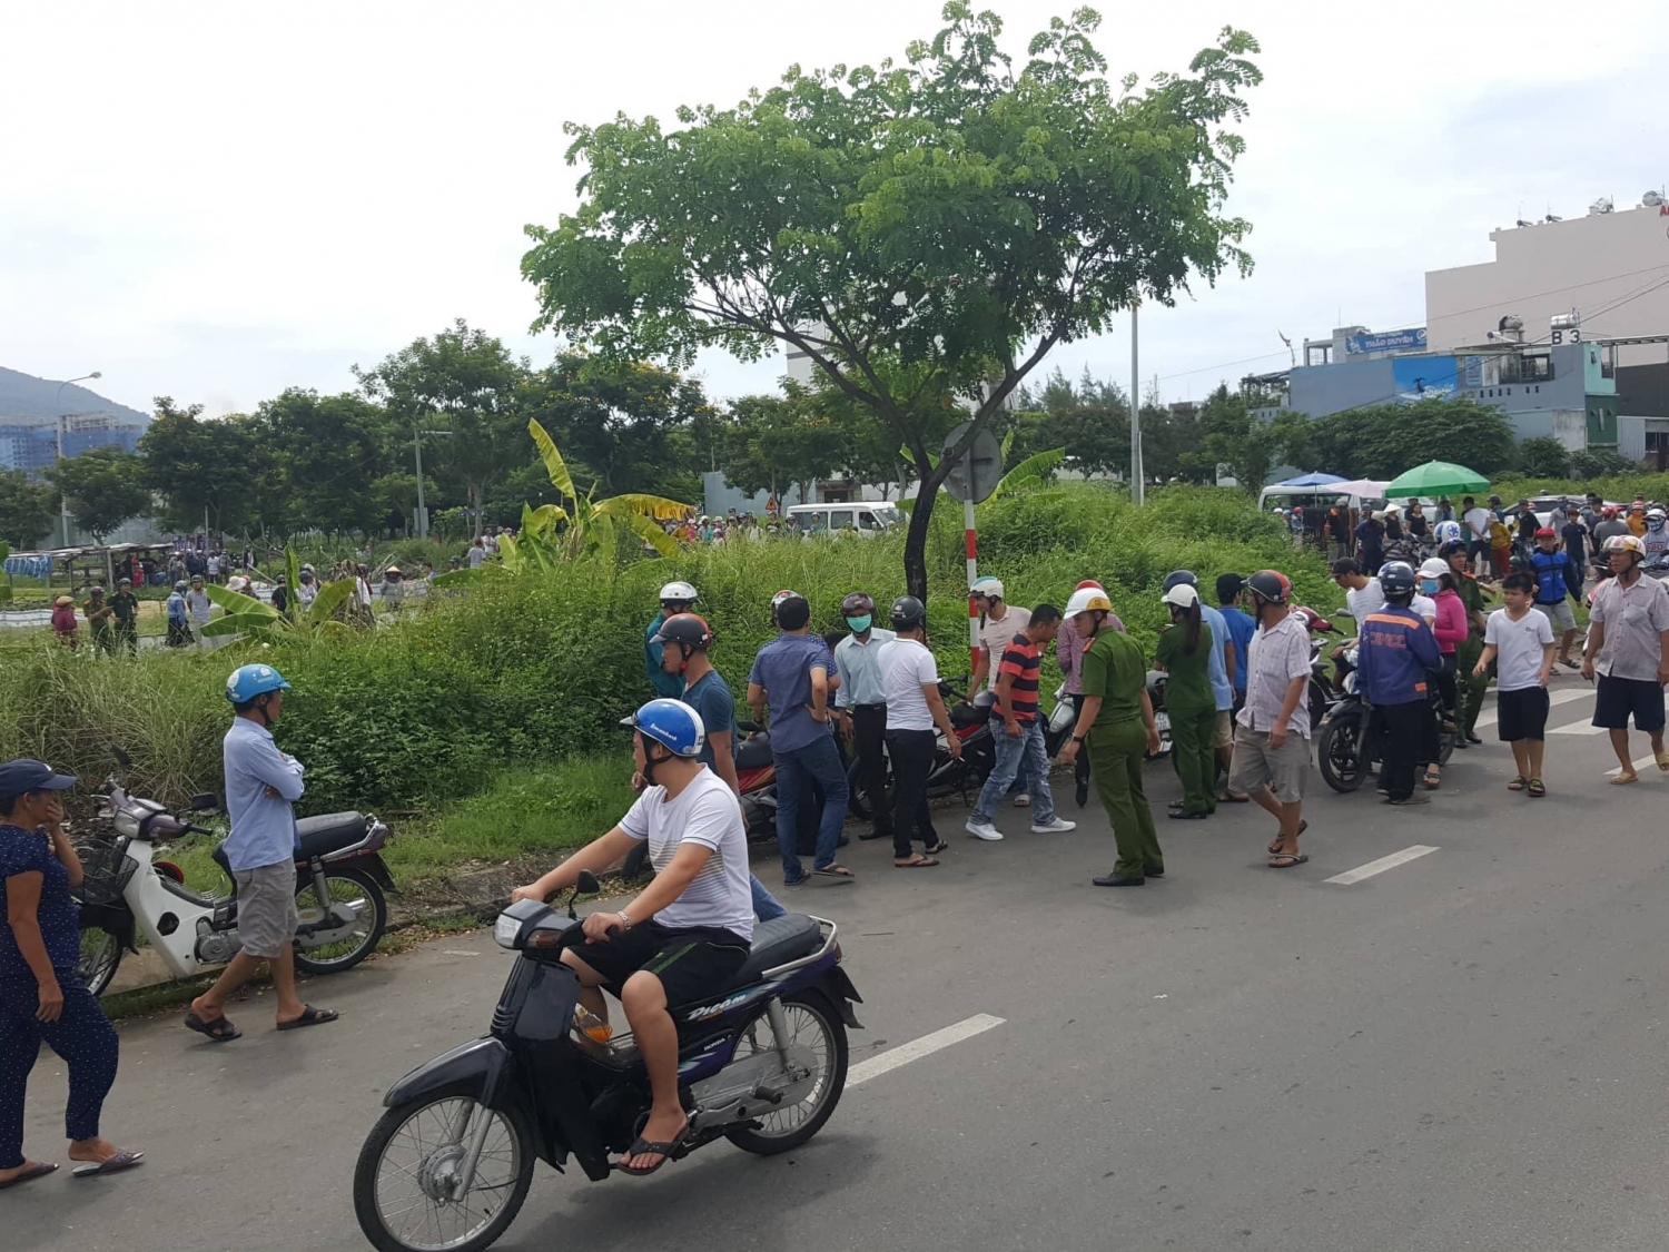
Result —
[[733, 109], [569, 125], [579, 207], [529, 227], [539, 326], [618, 361], [688, 367], [719, 346], [803, 352], [923, 466], [906, 583], [926, 594], [930, 466], [946, 401], [968, 439], [1056, 344], [1190, 275], [1245, 270], [1223, 205], [1243, 142], [1250, 35], [1227, 28], [1183, 73], [1110, 82], [1078, 8], [1031, 38], [963, 0], [903, 63], [793, 67]]

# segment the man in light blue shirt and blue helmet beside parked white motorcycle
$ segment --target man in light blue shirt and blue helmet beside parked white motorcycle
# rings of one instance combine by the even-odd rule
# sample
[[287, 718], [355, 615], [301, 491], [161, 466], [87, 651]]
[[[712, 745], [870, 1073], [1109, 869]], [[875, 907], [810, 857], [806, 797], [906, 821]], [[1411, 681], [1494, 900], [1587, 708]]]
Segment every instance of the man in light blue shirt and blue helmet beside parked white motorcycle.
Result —
[[270, 664], [245, 664], [225, 679], [232, 703], [232, 728], [222, 746], [225, 766], [225, 810], [232, 833], [225, 858], [237, 888], [237, 936], [244, 950], [222, 970], [215, 985], [192, 1000], [187, 1030], [215, 1043], [242, 1032], [225, 1015], [225, 998], [242, 987], [260, 962], [272, 970], [279, 1000], [279, 1030], [315, 1027], [337, 1018], [334, 1010], [314, 1008], [295, 995], [295, 810], [302, 798], [302, 763], [280, 753], [272, 741], [272, 723], [284, 711], [290, 684]]

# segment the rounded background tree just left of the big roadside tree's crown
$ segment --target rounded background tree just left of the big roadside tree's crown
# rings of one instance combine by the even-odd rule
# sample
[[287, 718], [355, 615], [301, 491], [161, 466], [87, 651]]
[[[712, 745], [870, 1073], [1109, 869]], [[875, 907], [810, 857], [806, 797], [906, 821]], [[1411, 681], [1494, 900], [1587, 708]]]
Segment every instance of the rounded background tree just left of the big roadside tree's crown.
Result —
[[462, 319], [432, 339], [417, 339], [376, 369], [354, 367], [367, 397], [387, 404], [407, 447], [417, 429], [442, 429], [449, 439], [426, 437], [426, 472], [452, 476], [481, 534], [482, 506], [492, 487], [527, 461], [527, 416], [522, 387], [529, 366], [501, 339]]

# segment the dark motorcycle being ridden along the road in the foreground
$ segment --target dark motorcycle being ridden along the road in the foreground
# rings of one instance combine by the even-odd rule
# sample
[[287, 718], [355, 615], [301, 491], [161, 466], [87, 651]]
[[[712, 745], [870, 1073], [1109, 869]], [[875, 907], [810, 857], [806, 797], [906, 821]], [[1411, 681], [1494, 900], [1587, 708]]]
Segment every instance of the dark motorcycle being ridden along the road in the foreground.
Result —
[[[567, 916], [536, 900], [492, 928], [517, 953], [489, 1033], [417, 1067], [382, 1097], [387, 1112], [354, 1170], [354, 1212], [382, 1252], [481, 1252], [509, 1229], [534, 1159], [572, 1157], [591, 1182], [609, 1177], [649, 1115], [649, 1080], [629, 1035], [586, 1013], [562, 947], [582, 942]], [[774, 1155], [809, 1140], [846, 1085], [846, 1028], [861, 1002], [836, 926], [789, 913], [761, 923], [748, 963], [699, 1005], [673, 1008], [679, 1095], [691, 1133], [681, 1159], [718, 1138]]]

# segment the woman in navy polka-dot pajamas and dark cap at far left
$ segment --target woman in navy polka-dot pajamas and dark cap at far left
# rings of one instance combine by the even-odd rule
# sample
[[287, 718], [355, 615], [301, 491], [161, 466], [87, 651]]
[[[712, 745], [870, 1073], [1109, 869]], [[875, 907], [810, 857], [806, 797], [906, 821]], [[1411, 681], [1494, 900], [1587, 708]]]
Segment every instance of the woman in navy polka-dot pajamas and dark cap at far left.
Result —
[[58, 1167], [23, 1155], [23, 1093], [45, 1040], [70, 1070], [63, 1125], [75, 1177], [140, 1162], [98, 1137], [98, 1113], [115, 1082], [117, 1035], [75, 977], [80, 930], [70, 888], [82, 861], [63, 833], [58, 793], [75, 780], [40, 761], [0, 765], [0, 1189]]

